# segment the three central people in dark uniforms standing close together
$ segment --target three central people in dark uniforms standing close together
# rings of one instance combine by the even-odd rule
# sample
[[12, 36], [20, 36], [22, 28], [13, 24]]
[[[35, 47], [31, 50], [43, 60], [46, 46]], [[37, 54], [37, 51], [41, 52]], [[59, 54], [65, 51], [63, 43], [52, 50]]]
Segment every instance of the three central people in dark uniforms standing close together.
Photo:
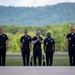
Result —
[[[30, 57], [31, 50], [33, 50], [34, 66], [36, 66], [37, 58], [38, 58], [39, 66], [42, 65], [42, 46], [41, 44], [44, 44], [44, 52], [46, 53], [47, 65], [48, 66], [52, 65], [53, 53], [55, 50], [55, 41], [53, 38], [51, 38], [51, 33], [49, 32], [47, 33], [47, 38], [44, 40], [40, 36], [40, 34], [41, 34], [40, 30], [37, 30], [36, 36], [31, 38], [31, 36], [28, 35], [28, 30], [27, 29], [24, 30], [24, 35], [20, 39], [20, 48], [22, 52], [24, 66], [29, 65], [29, 57]], [[33, 44], [33, 49], [32, 49], [32, 44]]]

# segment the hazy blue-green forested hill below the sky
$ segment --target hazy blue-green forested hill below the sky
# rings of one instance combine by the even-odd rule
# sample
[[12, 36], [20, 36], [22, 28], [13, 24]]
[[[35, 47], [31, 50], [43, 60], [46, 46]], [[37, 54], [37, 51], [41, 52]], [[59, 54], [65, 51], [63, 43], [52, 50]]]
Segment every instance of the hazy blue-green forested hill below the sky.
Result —
[[0, 25], [50, 25], [75, 22], [75, 3], [44, 7], [0, 6]]

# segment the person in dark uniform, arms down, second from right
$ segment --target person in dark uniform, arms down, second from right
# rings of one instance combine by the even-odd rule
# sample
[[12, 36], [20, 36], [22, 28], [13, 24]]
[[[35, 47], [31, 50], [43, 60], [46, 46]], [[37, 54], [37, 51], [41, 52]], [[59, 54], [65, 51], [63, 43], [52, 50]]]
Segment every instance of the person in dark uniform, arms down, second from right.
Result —
[[47, 33], [47, 38], [44, 39], [44, 52], [46, 53], [46, 64], [52, 66], [53, 53], [55, 52], [55, 41], [51, 38], [51, 33]]

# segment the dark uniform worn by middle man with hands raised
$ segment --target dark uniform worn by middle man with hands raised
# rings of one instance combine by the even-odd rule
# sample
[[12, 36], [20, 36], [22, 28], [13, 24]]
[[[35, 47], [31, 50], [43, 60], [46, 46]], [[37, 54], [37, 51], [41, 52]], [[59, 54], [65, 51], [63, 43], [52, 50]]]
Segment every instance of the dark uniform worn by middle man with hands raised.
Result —
[[[37, 36], [33, 37], [32, 41], [37, 40]], [[40, 41], [42, 41], [42, 37], [39, 37]], [[34, 66], [36, 66], [36, 58], [38, 57], [39, 66], [41, 66], [42, 62], [42, 48], [41, 43], [37, 41], [33, 46], [33, 58], [34, 58]]]

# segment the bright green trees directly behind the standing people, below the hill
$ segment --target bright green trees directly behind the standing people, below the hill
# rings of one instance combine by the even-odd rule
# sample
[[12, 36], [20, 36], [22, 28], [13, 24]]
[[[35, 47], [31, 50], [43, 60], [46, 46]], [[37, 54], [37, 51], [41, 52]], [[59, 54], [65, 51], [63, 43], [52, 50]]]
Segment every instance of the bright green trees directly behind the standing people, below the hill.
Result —
[[60, 25], [47, 25], [47, 26], [1, 26], [4, 28], [4, 32], [9, 37], [10, 48], [9, 52], [20, 52], [20, 37], [23, 35], [24, 29], [29, 30], [29, 35], [33, 38], [37, 29], [41, 30], [41, 36], [43, 39], [46, 38], [47, 32], [51, 32], [52, 38], [56, 42], [56, 51], [66, 51], [66, 35], [69, 33], [70, 26], [73, 26], [73, 23], [65, 23]]

